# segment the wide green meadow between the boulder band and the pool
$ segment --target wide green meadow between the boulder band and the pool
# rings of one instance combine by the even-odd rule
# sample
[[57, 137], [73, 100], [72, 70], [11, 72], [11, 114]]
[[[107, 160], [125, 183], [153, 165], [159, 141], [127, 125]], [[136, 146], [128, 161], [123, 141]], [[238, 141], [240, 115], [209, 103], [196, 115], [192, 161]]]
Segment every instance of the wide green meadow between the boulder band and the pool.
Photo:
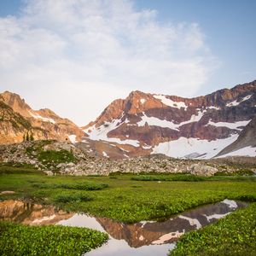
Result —
[[[160, 177], [165, 177], [166, 181], [160, 183], [135, 180], [135, 177], [140, 176], [2, 174], [0, 191], [14, 190], [16, 193], [0, 195], [0, 199], [25, 198], [53, 204], [67, 211], [88, 212], [126, 223], [168, 218], [189, 208], [225, 198], [256, 201], [255, 177], [214, 177], [217, 179], [187, 182], [172, 181], [172, 175], [163, 175]], [[90, 200], [86, 200], [88, 198]]]

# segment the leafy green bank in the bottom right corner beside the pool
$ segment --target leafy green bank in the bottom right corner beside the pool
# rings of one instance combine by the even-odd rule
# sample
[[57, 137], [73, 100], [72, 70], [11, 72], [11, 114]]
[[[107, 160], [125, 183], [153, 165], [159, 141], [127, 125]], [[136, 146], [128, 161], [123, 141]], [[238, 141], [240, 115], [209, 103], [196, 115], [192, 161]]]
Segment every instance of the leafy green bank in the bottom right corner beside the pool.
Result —
[[181, 255], [255, 255], [256, 203], [201, 230], [185, 234], [170, 253]]

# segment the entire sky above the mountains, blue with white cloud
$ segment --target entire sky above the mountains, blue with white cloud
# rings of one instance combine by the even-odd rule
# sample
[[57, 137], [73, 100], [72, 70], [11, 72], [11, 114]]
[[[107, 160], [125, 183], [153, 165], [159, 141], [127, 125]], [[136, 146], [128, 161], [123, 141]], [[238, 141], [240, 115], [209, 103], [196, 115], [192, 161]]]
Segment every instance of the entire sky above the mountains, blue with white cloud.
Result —
[[254, 0], [0, 0], [0, 92], [87, 125], [132, 90], [256, 79]]

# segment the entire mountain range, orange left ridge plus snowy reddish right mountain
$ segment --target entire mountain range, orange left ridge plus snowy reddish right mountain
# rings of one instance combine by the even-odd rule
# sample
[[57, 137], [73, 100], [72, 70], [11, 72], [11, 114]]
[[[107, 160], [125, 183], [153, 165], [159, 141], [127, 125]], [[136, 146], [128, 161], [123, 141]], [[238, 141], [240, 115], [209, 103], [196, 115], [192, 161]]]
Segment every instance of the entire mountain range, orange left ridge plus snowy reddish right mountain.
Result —
[[195, 98], [132, 91], [84, 127], [47, 108], [33, 110], [5, 91], [0, 144], [54, 139], [71, 142], [90, 157], [113, 160], [151, 154], [197, 160], [256, 156], [255, 116], [256, 81]]

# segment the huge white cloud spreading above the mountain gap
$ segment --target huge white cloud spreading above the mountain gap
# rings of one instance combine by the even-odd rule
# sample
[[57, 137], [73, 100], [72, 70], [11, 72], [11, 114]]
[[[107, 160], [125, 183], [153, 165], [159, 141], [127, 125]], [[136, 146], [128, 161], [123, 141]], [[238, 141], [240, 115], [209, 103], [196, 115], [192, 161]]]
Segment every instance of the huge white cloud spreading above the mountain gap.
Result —
[[194, 96], [216, 63], [199, 25], [128, 0], [26, 0], [0, 19], [0, 89], [79, 125], [131, 90]]

